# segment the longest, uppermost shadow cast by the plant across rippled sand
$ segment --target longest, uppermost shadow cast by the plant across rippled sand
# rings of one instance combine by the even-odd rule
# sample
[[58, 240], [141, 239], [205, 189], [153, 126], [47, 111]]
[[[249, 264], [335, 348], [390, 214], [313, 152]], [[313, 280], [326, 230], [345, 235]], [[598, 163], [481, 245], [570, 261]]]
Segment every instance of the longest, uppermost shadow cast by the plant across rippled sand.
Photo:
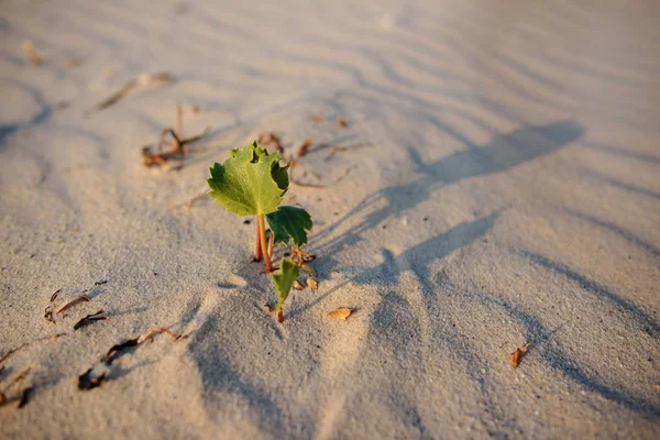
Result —
[[[584, 129], [575, 122], [562, 121], [549, 125], [526, 125], [512, 133], [498, 135], [483, 147], [470, 146], [447, 157], [425, 164], [419, 153], [408, 147], [408, 155], [422, 175], [416, 180], [386, 187], [366, 196], [337, 222], [315, 237], [317, 248], [324, 254], [341, 251], [360, 234], [375, 228], [384, 220], [397, 217], [431, 198], [438, 188], [464, 178], [505, 172], [551, 154], [564, 145], [578, 140]], [[384, 202], [384, 206], [382, 206]], [[358, 224], [331, 239], [334, 230], [353, 217], [366, 216]]]

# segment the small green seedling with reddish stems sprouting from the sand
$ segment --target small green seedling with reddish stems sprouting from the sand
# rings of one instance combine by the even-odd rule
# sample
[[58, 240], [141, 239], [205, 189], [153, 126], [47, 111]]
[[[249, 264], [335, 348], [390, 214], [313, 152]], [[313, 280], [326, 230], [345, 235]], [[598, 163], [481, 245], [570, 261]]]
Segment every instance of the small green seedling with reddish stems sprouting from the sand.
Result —
[[[238, 216], [256, 216], [256, 240], [254, 260], [262, 255], [266, 272], [273, 272], [273, 246], [292, 242], [292, 255], [297, 261], [283, 260], [280, 272], [273, 274], [277, 290], [277, 320], [284, 319], [283, 302], [298, 277], [299, 268], [305, 264], [305, 252], [300, 246], [307, 243], [307, 231], [312, 222], [309, 213], [302, 208], [280, 207], [282, 198], [288, 190], [289, 164], [279, 165], [278, 152], [268, 153], [257, 146], [256, 142], [242, 148], [229, 152], [231, 157], [223, 164], [213, 164], [211, 177], [207, 179], [208, 195], [218, 205]], [[270, 234], [266, 233], [266, 221]]]

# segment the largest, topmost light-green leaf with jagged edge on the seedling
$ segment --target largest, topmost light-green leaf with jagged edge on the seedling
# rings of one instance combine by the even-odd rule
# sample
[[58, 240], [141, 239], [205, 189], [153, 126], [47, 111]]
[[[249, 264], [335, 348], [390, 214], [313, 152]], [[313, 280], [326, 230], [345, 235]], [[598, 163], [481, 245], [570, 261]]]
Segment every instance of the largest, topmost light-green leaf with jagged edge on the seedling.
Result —
[[[256, 216], [277, 210], [288, 186], [282, 187], [286, 167], [279, 166], [279, 153], [268, 154], [256, 143], [230, 151], [231, 157], [223, 164], [213, 164], [211, 188], [207, 194], [229, 212], [239, 216]], [[273, 174], [275, 173], [275, 174]], [[275, 179], [277, 177], [277, 180]]]

